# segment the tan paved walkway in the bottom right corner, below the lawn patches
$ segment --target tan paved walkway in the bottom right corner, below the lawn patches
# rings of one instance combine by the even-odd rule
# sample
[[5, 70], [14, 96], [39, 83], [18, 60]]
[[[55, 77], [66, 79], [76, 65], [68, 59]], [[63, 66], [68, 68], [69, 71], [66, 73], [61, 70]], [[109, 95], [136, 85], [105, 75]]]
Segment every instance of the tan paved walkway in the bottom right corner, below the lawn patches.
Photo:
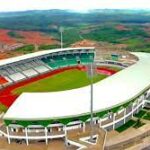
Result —
[[[133, 145], [148, 144], [146, 139], [150, 139], [150, 124], [146, 124], [138, 129], [129, 128], [128, 130], [117, 133], [111, 131], [108, 133], [106, 140], [106, 150], [123, 150]], [[150, 144], [150, 142], [149, 142]], [[136, 147], [136, 146], [135, 146]], [[138, 149], [136, 149], [138, 150]]]

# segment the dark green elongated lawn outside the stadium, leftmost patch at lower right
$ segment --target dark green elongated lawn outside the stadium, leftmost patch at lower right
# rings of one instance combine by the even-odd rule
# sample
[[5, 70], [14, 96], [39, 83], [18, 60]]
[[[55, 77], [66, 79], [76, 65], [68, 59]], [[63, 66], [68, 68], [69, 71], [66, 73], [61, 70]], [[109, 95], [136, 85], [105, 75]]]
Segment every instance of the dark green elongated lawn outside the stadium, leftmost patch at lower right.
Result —
[[127, 130], [128, 128], [132, 127], [135, 124], [136, 124], [136, 121], [130, 120], [127, 123], [125, 123], [124, 125], [122, 125], [119, 128], [117, 128], [116, 131], [123, 132], [123, 131]]

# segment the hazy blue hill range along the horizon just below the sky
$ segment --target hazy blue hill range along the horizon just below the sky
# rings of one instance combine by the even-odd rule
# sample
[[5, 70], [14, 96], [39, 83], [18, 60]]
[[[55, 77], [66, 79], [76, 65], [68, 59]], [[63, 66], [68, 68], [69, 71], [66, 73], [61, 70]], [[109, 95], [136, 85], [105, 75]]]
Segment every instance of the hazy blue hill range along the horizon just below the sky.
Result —
[[150, 12], [146, 10], [91, 10], [88, 13], [69, 10], [38, 10], [0, 13], [0, 28], [57, 32], [52, 26], [74, 27], [81, 24], [149, 23]]

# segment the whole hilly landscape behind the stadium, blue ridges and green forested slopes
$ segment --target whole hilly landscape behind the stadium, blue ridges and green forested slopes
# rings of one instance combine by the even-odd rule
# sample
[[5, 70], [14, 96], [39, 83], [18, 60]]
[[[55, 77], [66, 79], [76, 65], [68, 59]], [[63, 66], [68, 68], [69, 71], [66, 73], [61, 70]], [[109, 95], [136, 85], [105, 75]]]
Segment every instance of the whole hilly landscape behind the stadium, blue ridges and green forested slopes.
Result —
[[[128, 51], [150, 52], [150, 10], [96, 9], [80, 13], [54, 9], [0, 13], [1, 31], [10, 30], [6, 36], [17, 41], [23, 41], [20, 33], [36, 31], [59, 43], [60, 27], [63, 27], [64, 47], [87, 39], [123, 45]], [[40, 49], [59, 46], [35, 43]]]

